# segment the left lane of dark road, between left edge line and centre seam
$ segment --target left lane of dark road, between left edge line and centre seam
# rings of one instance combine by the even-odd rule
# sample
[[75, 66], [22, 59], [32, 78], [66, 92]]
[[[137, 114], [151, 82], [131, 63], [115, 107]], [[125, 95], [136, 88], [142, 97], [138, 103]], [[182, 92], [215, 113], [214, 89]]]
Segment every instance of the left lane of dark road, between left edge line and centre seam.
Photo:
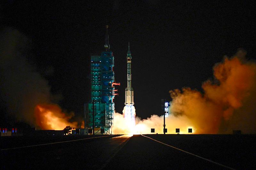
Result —
[[1, 166], [3, 169], [100, 169], [128, 139], [101, 137], [4, 150]]

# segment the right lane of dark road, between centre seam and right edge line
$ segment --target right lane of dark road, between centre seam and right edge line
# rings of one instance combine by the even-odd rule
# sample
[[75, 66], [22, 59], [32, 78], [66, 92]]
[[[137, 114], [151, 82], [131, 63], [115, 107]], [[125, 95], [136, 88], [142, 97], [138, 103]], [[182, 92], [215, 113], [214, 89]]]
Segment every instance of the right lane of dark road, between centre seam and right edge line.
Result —
[[134, 135], [106, 169], [226, 169], [188, 153]]

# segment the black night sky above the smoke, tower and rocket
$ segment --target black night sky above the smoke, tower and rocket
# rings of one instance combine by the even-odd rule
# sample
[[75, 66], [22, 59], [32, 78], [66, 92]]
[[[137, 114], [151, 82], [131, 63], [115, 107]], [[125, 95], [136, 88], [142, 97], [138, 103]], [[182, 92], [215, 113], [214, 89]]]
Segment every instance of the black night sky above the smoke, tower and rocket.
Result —
[[115, 56], [119, 96], [124, 108], [126, 53], [132, 52], [132, 87], [136, 115], [160, 115], [169, 91], [213, 79], [212, 67], [237, 48], [255, 59], [253, 1], [5, 1], [1, 29], [19, 30], [30, 40], [29, 63], [48, 80], [65, 112], [83, 115], [90, 100], [90, 56], [104, 50], [105, 25]]

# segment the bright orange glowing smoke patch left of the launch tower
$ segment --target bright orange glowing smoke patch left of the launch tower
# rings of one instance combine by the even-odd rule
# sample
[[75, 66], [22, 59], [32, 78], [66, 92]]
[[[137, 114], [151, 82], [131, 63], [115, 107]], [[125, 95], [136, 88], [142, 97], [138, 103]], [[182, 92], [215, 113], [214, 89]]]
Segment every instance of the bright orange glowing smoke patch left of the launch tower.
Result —
[[52, 104], [38, 104], [35, 107], [36, 124], [42, 129], [62, 130], [66, 126], [76, 127], [77, 122], [69, 122], [74, 115], [66, 115], [61, 108]]

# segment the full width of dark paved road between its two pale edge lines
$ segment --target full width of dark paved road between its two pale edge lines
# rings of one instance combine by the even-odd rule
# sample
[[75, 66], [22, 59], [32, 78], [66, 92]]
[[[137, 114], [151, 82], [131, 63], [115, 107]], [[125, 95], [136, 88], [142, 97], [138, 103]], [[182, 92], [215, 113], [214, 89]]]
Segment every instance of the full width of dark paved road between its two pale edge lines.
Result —
[[226, 169], [141, 135], [100, 137], [1, 152], [3, 169]]

